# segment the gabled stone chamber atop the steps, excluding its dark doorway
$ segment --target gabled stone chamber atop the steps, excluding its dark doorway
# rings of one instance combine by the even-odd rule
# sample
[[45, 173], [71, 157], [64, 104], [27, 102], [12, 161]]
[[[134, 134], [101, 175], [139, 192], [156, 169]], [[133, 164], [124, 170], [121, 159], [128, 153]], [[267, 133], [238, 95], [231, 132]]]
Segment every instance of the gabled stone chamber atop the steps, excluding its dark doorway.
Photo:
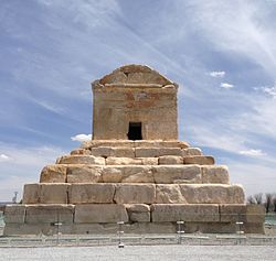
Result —
[[129, 122], [141, 122], [144, 140], [177, 140], [177, 89], [146, 66], [125, 66], [94, 81], [93, 139], [127, 140]]

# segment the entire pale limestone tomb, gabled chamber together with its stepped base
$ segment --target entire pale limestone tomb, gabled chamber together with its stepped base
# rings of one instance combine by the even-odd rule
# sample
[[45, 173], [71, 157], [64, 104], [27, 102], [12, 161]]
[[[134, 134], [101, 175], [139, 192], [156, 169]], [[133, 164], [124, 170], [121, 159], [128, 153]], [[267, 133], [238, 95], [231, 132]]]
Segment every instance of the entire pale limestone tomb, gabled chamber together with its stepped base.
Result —
[[128, 65], [93, 83], [93, 140], [43, 167], [6, 208], [4, 235], [56, 232], [264, 232], [229, 170], [178, 141], [178, 85]]

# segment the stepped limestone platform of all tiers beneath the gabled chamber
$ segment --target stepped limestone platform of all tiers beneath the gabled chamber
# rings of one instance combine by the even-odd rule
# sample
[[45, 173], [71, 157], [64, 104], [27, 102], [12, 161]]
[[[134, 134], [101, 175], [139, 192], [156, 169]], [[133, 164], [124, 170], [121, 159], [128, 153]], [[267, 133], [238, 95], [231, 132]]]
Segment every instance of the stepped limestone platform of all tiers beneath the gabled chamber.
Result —
[[116, 232], [118, 221], [126, 232], [176, 232], [179, 220], [187, 232], [234, 232], [236, 221], [245, 232], [263, 232], [259, 213], [245, 205], [241, 185], [230, 184], [227, 167], [198, 148], [100, 140], [84, 142], [46, 165], [40, 183], [26, 184], [23, 204], [7, 206], [4, 235], [51, 235], [56, 222], [64, 233]]

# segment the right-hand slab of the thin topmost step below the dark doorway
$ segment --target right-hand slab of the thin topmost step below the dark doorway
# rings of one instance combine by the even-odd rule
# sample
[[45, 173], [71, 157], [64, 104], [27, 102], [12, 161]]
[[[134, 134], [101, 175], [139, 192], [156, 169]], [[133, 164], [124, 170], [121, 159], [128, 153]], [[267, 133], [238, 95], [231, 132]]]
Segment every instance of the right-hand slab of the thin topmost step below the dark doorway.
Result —
[[134, 142], [135, 148], [180, 148], [185, 149], [189, 144], [185, 141], [162, 141], [162, 140], [137, 140]]

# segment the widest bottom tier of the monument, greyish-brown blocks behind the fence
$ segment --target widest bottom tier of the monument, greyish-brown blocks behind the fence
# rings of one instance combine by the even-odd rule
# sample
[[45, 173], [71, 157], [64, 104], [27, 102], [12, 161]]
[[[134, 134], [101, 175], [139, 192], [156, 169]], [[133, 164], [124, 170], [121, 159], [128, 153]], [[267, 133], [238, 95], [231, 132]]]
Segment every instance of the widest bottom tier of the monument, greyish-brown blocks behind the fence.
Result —
[[[264, 233], [264, 207], [217, 204], [8, 205], [4, 236], [85, 233]], [[136, 220], [135, 220], [136, 219]]]

